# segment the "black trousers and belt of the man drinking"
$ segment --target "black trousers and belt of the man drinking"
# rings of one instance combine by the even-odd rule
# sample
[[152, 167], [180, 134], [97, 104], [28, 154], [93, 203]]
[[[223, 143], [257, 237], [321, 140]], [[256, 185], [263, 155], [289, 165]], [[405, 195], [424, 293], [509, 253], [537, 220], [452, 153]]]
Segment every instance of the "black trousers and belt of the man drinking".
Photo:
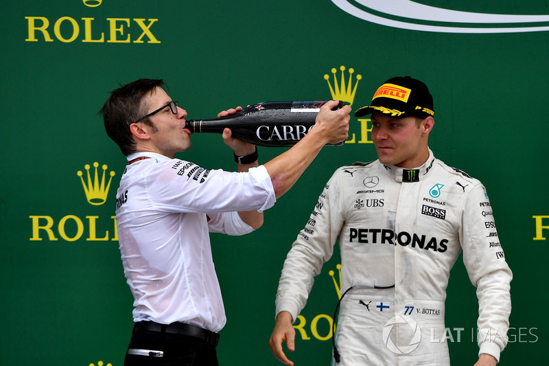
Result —
[[215, 346], [194, 336], [134, 330], [124, 366], [219, 366]]

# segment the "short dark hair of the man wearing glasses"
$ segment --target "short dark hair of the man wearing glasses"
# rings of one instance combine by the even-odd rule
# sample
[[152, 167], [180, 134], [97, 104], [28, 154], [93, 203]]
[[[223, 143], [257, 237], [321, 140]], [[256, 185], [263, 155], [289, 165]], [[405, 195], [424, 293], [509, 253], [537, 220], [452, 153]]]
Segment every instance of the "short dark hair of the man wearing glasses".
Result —
[[[115, 141], [122, 154], [135, 152], [136, 143], [130, 132], [130, 124], [147, 114], [148, 106], [142, 103], [143, 98], [163, 85], [162, 79], [139, 79], [110, 92], [99, 114], [103, 116], [108, 137]], [[148, 118], [141, 119], [141, 122], [154, 128]]]

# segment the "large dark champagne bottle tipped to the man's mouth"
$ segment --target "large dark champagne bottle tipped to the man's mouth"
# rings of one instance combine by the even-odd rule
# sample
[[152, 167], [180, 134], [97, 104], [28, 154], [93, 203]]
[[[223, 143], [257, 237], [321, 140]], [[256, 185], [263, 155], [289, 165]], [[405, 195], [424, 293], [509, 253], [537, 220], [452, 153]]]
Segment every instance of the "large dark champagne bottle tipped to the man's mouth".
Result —
[[[231, 128], [233, 137], [258, 146], [292, 146], [314, 126], [320, 106], [327, 101], [263, 102], [232, 115], [213, 119], [189, 119], [185, 128], [192, 133], [223, 133]], [[343, 106], [340, 102], [334, 109]], [[344, 141], [338, 144], [342, 145]]]

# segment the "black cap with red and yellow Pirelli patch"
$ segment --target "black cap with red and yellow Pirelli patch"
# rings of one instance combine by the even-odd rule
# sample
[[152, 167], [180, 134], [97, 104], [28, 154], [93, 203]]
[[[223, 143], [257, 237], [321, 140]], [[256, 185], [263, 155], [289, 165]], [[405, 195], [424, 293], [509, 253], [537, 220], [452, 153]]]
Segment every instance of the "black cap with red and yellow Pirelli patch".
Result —
[[373, 112], [393, 118], [427, 118], [434, 115], [433, 97], [423, 82], [410, 76], [397, 76], [384, 82], [373, 95], [371, 106], [359, 108], [355, 117]]

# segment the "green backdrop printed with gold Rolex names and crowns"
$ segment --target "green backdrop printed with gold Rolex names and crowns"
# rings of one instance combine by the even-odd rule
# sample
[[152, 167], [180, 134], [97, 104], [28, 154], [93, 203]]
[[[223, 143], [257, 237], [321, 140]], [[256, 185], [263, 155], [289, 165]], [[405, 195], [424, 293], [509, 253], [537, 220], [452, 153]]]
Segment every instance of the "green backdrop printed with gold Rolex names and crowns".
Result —
[[[392, 76], [410, 75], [430, 86], [436, 110], [430, 147], [486, 185], [513, 269], [512, 328], [500, 364], [544, 363], [549, 5], [421, 1], [462, 12], [546, 15], [541, 23], [521, 20], [513, 23], [515, 30], [502, 31], [510, 26], [501, 19], [478, 24], [471, 16], [467, 23], [452, 23], [421, 19], [431, 14], [425, 8], [391, 15], [375, 10], [374, 3], [380, 2], [3, 3], [0, 365], [123, 364], [132, 297], [113, 215], [125, 157], [97, 116], [109, 91], [137, 78], [164, 78], [189, 118], [207, 118], [256, 102], [335, 98], [331, 69], [339, 83], [342, 66], [351, 89], [360, 75], [353, 111], [369, 104], [375, 89]], [[533, 25], [537, 28], [526, 28]], [[423, 26], [428, 30], [417, 30]], [[325, 148], [266, 211], [261, 229], [240, 238], [212, 236], [228, 316], [218, 347], [221, 365], [279, 365], [267, 343], [283, 260], [331, 173], [340, 165], [375, 159], [368, 128], [366, 119], [352, 117], [348, 143]], [[178, 157], [235, 169], [219, 135], [194, 135], [192, 141], [191, 150]], [[283, 150], [259, 148], [260, 161]], [[105, 176], [99, 195], [106, 194], [106, 202], [86, 197], [86, 165], [92, 188], [101, 191]], [[329, 364], [329, 325], [338, 300], [329, 271], [337, 272], [338, 263], [336, 253], [303, 310], [297, 350], [290, 356], [296, 365]], [[454, 365], [476, 361], [477, 308], [474, 287], [458, 260], [446, 310]]]

